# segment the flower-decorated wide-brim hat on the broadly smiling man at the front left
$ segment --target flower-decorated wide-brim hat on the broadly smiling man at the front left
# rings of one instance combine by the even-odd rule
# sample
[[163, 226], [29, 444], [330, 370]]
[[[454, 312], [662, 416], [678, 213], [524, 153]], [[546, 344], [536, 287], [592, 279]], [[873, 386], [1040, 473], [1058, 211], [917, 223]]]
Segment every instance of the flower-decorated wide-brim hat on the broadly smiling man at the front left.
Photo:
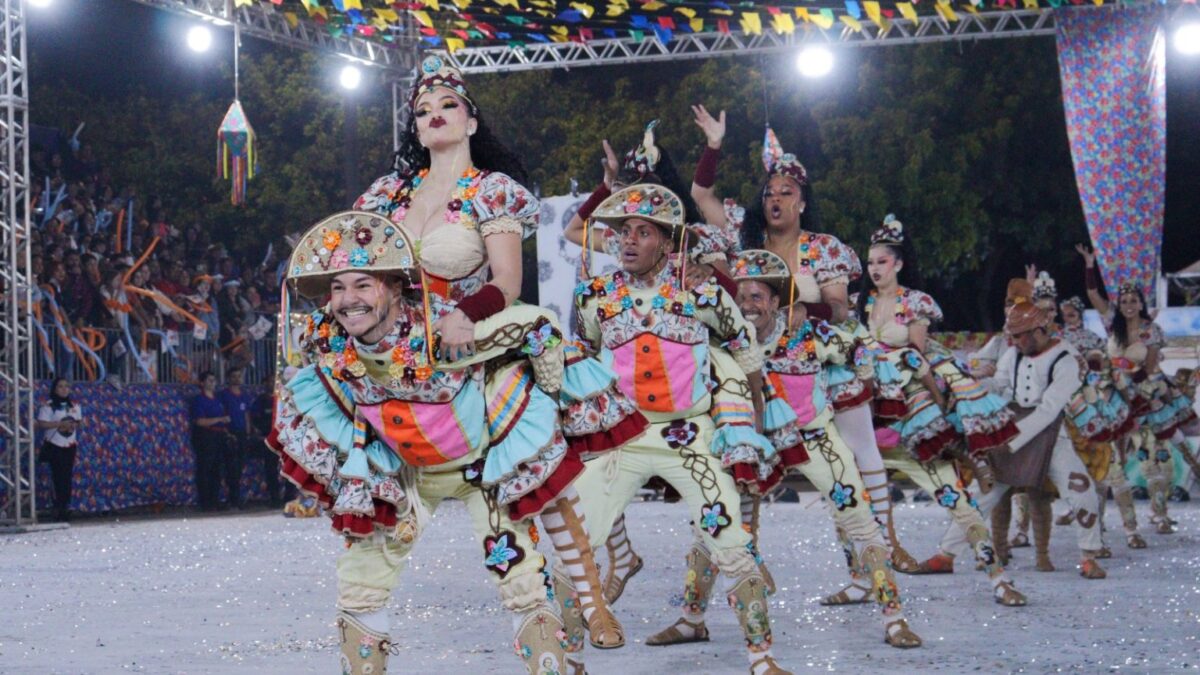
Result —
[[329, 293], [338, 274], [410, 276], [416, 251], [404, 228], [379, 214], [342, 211], [312, 226], [288, 261], [288, 281], [305, 298]]

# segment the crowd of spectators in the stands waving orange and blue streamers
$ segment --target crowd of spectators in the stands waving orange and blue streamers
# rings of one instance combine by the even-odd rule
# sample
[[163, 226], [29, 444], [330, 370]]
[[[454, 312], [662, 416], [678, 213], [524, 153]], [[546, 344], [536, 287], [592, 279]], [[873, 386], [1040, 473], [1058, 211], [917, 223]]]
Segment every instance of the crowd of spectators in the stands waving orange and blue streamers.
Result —
[[[164, 351], [161, 341], [167, 339], [173, 347], [192, 341], [214, 346], [227, 364], [252, 359], [251, 340], [270, 329], [278, 311], [275, 262], [263, 258], [266, 246], [230, 251], [212, 228], [173, 219], [162, 197], [115, 185], [88, 143], [41, 131], [42, 142], [35, 139], [30, 153], [29, 271], [49, 339], [62, 342], [62, 331], [100, 329], [91, 333], [106, 336], [100, 356], [107, 370], [128, 377], [134, 374], [120, 369], [130, 341], [144, 353]], [[138, 265], [155, 239], [154, 251]], [[121, 339], [126, 331], [132, 340]], [[65, 375], [62, 364], [55, 366]], [[197, 372], [217, 363], [188, 366]]]

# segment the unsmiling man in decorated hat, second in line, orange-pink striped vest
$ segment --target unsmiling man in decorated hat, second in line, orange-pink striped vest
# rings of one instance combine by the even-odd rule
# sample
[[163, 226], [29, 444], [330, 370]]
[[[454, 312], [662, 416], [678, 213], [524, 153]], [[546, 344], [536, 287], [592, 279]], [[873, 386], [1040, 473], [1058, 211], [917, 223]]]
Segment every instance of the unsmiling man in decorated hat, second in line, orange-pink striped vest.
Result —
[[[580, 492], [593, 524], [592, 542], [607, 538], [607, 527], [652, 476], [670, 483], [688, 503], [702, 531], [702, 555], [731, 581], [727, 593], [746, 640], [750, 671], [782, 674], [770, 653], [766, 580], [748, 544], [751, 537], [737, 522], [738, 486], [726, 466], [751, 464], [766, 478], [776, 458], [714, 456], [713, 398], [707, 381], [710, 340], [727, 345], [761, 401], [762, 356], [752, 328], [715, 282], [688, 291], [682, 285], [686, 258], [673, 259], [684, 241], [684, 207], [658, 185], [632, 185], [614, 192], [594, 217], [619, 233], [622, 270], [582, 282], [576, 291], [578, 334], [589, 351], [619, 375], [622, 390], [652, 422], [650, 431], [619, 453], [590, 462]], [[683, 249], [683, 246], [679, 246]], [[697, 640], [703, 626], [679, 625]]]

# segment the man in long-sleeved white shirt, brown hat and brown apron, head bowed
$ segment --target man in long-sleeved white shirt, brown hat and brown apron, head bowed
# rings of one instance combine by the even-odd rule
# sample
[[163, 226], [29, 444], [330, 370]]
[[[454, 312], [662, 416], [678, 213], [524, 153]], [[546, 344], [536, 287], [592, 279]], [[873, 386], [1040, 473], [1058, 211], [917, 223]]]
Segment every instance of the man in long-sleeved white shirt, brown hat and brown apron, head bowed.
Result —
[[[1051, 335], [1050, 315], [1028, 300], [1008, 310], [1004, 333], [1013, 346], [1000, 358], [989, 384], [1010, 401], [1019, 416], [1020, 434], [1009, 448], [992, 452], [996, 486], [979, 497], [979, 509], [990, 513], [1009, 488], [1036, 489], [1049, 478], [1076, 514], [1080, 574], [1104, 579], [1106, 574], [1096, 562], [1100, 550], [1099, 501], [1087, 467], [1062, 426], [1067, 404], [1082, 383], [1079, 353]], [[942, 549], [956, 550], [960, 538], [952, 531]]]

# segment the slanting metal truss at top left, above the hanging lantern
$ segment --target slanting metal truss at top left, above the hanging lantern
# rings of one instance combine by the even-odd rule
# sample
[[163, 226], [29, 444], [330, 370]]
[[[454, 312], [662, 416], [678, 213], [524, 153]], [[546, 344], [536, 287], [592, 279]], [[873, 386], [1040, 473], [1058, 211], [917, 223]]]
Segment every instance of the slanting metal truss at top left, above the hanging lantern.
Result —
[[[268, 2], [256, 2], [232, 11], [228, 6], [229, 0], [133, 1], [217, 23], [228, 24], [236, 20], [239, 30], [244, 35], [300, 49], [316, 49], [348, 56], [383, 67], [400, 76], [407, 74], [408, 71], [416, 67], [418, 62], [416, 47], [420, 35], [418, 35], [416, 28], [413, 25], [407, 12], [401, 14], [401, 23], [390, 29], [394, 41], [385, 43], [367, 37], [334, 36], [326, 29], [310, 22], [305, 17], [300, 17], [295, 28], [293, 28], [284, 17], [284, 12]], [[230, 14], [233, 18], [230, 18]]]

